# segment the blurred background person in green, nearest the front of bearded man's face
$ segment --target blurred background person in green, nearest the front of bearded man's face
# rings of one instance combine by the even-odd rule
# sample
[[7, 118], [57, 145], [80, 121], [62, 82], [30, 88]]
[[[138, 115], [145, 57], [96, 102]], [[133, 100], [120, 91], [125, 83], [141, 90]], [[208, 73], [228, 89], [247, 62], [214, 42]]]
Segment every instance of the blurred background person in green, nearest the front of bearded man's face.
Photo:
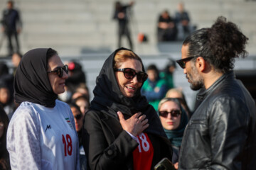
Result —
[[169, 58], [169, 62], [166, 64], [166, 68], [160, 72], [161, 79], [166, 80], [167, 89], [174, 88], [174, 72], [176, 69], [176, 62]]

